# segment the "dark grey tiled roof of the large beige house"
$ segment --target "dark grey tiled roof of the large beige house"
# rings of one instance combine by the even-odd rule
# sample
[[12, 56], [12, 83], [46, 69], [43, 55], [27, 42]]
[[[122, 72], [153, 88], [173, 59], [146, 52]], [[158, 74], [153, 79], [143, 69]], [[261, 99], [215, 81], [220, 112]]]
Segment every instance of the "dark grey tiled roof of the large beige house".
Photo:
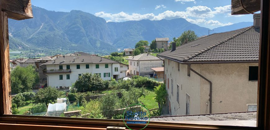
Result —
[[259, 28], [253, 26], [214, 33], [191, 41], [158, 56], [179, 62], [258, 61]]

